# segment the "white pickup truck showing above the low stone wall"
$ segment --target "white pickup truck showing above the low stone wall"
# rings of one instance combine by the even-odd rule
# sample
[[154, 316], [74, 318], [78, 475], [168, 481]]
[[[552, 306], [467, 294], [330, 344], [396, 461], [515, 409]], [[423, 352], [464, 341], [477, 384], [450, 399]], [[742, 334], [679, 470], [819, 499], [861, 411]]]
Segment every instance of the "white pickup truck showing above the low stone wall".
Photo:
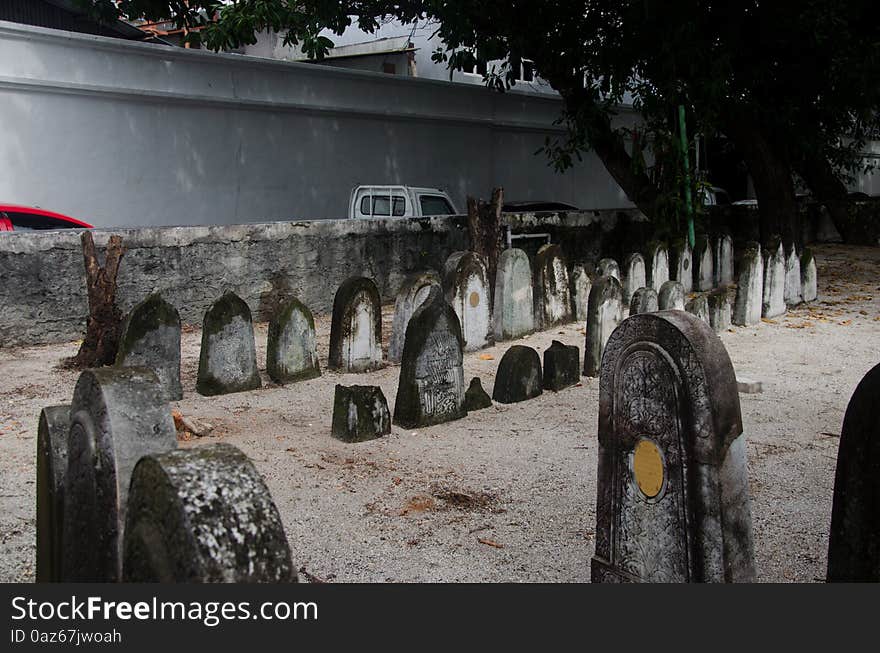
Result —
[[351, 191], [349, 218], [413, 218], [458, 215], [452, 199], [439, 188], [358, 186]]

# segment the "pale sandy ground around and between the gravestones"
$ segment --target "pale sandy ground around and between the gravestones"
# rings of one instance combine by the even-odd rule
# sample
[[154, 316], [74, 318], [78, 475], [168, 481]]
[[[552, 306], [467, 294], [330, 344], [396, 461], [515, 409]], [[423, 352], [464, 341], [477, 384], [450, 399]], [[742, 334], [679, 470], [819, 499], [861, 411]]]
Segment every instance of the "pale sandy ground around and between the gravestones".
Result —
[[[843, 414], [856, 384], [880, 362], [880, 250], [821, 246], [816, 258], [817, 302], [721, 334], [737, 375], [764, 388], [740, 395], [761, 581], [824, 579]], [[386, 307], [386, 344], [391, 314]], [[324, 370], [329, 328], [319, 316]], [[265, 324], [256, 336], [262, 369]], [[466, 354], [466, 381], [479, 376], [491, 394], [508, 347], [543, 352], [553, 339], [583, 353], [582, 327], [572, 324]], [[398, 366], [325, 371], [286, 387], [264, 373], [261, 390], [205, 398], [195, 393], [199, 343], [199, 330], [186, 329], [184, 399], [174, 407], [215, 430], [181, 446], [223, 441], [250, 456], [281, 512], [302, 580], [589, 581], [597, 379], [345, 444], [330, 437], [335, 384], [379, 385], [393, 411]], [[0, 350], [0, 581], [34, 579], [37, 418], [43, 406], [70, 401], [77, 374], [56, 365], [76, 348]]]

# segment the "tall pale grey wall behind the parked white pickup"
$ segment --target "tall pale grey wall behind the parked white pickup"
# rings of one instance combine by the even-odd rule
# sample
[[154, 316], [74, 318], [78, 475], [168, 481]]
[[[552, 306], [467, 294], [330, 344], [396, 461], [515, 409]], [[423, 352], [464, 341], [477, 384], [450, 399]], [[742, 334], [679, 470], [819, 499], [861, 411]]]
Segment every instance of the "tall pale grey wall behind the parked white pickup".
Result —
[[[341, 218], [358, 184], [631, 206], [555, 96], [0, 22], [0, 199], [97, 227]], [[622, 121], [633, 114], [624, 109]]]

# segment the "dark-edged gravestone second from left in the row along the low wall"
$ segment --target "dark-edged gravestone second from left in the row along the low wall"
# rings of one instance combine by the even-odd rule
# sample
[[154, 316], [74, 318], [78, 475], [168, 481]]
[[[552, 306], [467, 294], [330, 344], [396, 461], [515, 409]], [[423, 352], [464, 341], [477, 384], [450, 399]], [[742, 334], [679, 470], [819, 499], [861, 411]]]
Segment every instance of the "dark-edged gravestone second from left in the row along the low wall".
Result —
[[196, 391], [223, 395], [261, 385], [251, 310], [238, 295], [227, 292], [205, 313]]

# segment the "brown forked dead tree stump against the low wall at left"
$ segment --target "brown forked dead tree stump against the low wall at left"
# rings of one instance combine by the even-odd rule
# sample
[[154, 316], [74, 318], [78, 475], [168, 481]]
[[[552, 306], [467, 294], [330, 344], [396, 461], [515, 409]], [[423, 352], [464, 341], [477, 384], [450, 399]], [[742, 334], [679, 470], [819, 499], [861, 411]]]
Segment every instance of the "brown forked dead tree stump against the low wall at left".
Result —
[[86, 337], [76, 356], [65, 361], [66, 367], [84, 369], [112, 365], [116, 360], [122, 328], [122, 312], [116, 306], [116, 275], [125, 249], [120, 236], [110, 236], [104, 252], [104, 266], [98, 263], [91, 231], [82, 234], [83, 261], [89, 317]]

